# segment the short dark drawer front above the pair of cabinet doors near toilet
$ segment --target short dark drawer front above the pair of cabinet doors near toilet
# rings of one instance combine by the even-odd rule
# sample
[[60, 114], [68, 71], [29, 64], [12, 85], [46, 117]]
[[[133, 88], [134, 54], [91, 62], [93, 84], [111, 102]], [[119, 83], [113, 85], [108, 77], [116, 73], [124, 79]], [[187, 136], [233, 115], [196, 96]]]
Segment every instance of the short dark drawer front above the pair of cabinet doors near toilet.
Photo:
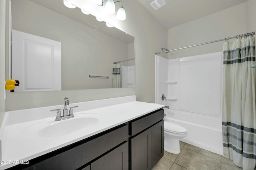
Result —
[[164, 119], [164, 109], [132, 122], [132, 136]]

